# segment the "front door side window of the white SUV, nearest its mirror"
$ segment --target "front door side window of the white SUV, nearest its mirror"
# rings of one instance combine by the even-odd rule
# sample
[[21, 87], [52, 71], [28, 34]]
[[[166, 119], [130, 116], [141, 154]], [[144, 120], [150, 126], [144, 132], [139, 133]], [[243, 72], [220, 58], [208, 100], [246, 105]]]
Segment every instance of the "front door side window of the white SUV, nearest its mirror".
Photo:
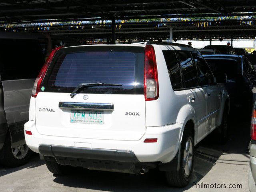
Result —
[[192, 56], [197, 66], [199, 85], [204, 86], [204, 85], [214, 83], [214, 77], [212, 75], [212, 71], [210, 70], [204, 58], [202, 58], [202, 56], [200, 56], [196, 52], [193, 52]]

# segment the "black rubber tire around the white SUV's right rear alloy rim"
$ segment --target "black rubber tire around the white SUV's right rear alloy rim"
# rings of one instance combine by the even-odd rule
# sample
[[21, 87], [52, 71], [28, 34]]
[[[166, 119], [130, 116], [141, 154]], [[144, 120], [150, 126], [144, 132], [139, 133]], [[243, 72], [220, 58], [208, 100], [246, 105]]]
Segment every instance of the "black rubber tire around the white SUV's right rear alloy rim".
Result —
[[[185, 154], [186, 143], [189, 140], [191, 141], [191, 144], [192, 144], [192, 164], [191, 164], [190, 172], [187, 175], [184, 171], [184, 168], [185, 168], [184, 154]], [[185, 130], [182, 137], [181, 148], [180, 148], [180, 169], [178, 171], [166, 172], [166, 180], [168, 184], [174, 187], [187, 186], [192, 177], [193, 168], [194, 168], [194, 138], [190, 130]]]

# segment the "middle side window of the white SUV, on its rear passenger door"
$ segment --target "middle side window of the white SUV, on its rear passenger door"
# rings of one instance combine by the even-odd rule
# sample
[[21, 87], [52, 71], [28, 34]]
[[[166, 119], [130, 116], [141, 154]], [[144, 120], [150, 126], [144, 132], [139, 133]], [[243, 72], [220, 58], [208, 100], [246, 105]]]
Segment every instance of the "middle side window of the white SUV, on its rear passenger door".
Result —
[[185, 88], [198, 87], [197, 72], [189, 51], [177, 51]]

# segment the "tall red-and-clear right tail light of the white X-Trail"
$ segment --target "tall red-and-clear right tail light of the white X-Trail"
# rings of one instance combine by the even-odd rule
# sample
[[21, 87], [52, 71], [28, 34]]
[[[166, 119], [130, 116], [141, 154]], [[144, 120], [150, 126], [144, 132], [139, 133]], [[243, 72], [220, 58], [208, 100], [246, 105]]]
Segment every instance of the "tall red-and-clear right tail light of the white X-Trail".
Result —
[[144, 96], [146, 101], [158, 99], [156, 54], [152, 45], [146, 45], [144, 58]]

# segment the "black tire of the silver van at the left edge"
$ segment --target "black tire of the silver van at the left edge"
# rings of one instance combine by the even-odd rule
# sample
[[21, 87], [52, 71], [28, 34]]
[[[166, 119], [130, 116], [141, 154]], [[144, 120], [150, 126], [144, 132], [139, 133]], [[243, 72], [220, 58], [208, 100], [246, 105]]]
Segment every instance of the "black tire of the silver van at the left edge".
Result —
[[[24, 145], [24, 147], [28, 148], [26, 145]], [[6, 138], [2, 150], [3, 158], [0, 160], [0, 163], [7, 167], [18, 167], [26, 164], [32, 154], [32, 151], [28, 149], [24, 157], [16, 158], [12, 152], [11, 139], [9, 136]]]

